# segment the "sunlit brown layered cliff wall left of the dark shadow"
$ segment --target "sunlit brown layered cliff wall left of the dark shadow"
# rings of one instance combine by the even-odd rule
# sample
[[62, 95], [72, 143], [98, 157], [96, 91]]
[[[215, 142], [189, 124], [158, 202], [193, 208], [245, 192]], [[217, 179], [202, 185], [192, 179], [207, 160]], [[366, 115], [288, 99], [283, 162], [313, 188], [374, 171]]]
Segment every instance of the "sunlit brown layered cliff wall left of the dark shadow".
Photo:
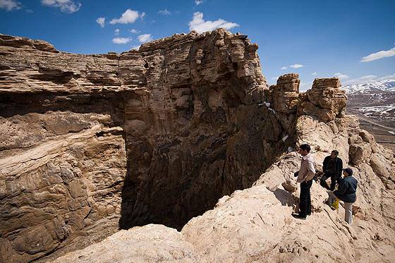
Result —
[[127, 169], [123, 96], [76, 80], [78, 67], [114, 61], [0, 39], [0, 262], [114, 233]]

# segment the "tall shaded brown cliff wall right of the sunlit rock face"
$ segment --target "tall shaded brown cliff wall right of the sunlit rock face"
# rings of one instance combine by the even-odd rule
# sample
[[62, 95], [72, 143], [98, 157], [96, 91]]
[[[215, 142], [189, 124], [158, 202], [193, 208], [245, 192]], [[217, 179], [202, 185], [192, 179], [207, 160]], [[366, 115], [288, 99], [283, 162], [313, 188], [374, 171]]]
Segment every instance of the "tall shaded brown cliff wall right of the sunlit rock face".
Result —
[[121, 228], [181, 228], [233, 190], [249, 187], [286, 149], [262, 106], [257, 45], [224, 30], [139, 50], [150, 97], [126, 102], [129, 169]]

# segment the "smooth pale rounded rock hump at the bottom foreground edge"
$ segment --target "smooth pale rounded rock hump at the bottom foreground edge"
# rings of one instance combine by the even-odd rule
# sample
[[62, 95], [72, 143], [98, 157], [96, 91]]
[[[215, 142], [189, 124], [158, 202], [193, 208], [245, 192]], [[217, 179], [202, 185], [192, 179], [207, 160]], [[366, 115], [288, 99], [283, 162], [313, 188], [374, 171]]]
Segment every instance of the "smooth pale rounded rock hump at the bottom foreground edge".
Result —
[[90, 249], [86, 255], [72, 252], [54, 262], [199, 262], [193, 245], [163, 225], [136, 226], [133, 235], [121, 230]]

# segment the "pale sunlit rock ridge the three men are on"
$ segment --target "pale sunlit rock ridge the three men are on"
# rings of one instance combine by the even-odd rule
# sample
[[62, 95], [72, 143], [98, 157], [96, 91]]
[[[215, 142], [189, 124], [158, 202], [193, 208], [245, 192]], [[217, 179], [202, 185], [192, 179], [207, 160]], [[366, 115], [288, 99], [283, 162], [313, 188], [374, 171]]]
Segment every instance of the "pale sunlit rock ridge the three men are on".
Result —
[[360, 130], [355, 116], [344, 114], [346, 97], [332, 84], [312, 88], [297, 100], [296, 145], [312, 145], [318, 172], [324, 157], [339, 150], [358, 179], [353, 225], [344, 221], [342, 206], [332, 211], [324, 204], [328, 194], [315, 182], [312, 215], [305, 221], [291, 216], [298, 210], [300, 190], [293, 172], [298, 171], [300, 156], [288, 152], [253, 187], [222, 197], [181, 232], [158, 225], [135, 227], [55, 262], [393, 262], [394, 153]]

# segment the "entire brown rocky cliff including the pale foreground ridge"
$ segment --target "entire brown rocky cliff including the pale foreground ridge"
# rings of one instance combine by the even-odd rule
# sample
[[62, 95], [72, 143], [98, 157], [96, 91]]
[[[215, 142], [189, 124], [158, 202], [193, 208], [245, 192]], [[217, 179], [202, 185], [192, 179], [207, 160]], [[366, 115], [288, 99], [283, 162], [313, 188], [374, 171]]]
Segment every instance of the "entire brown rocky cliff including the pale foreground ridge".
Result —
[[[338, 79], [267, 87], [256, 50], [221, 29], [104, 55], [0, 35], [0, 259], [135, 226], [57, 260], [390, 262], [394, 154], [345, 114]], [[353, 166], [353, 226], [317, 184], [312, 216], [291, 217], [302, 142], [319, 170], [332, 149]]]

